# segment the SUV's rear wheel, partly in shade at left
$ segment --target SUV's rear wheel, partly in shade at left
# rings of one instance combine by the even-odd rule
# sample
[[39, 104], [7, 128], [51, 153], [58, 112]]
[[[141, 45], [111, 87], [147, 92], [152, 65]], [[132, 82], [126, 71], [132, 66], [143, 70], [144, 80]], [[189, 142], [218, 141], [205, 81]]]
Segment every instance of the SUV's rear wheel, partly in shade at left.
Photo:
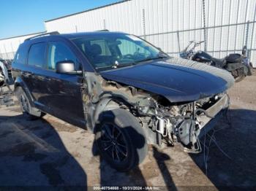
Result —
[[23, 115], [29, 118], [29, 120], [37, 120], [45, 115], [45, 113], [31, 106], [29, 98], [22, 87], [16, 88], [15, 95], [18, 98], [20, 109], [23, 112]]

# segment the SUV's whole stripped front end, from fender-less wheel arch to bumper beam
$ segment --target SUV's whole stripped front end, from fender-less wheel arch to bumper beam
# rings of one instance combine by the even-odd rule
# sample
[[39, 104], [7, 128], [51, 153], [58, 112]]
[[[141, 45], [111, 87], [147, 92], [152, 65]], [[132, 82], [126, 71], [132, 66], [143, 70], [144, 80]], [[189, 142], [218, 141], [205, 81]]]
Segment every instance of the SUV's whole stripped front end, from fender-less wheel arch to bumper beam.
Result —
[[174, 145], [180, 142], [186, 152], [200, 152], [201, 130], [229, 106], [226, 93], [197, 101], [174, 103], [162, 95], [86, 73], [82, 87], [86, 126], [94, 131], [99, 114], [116, 108], [127, 109], [139, 121], [148, 144]]

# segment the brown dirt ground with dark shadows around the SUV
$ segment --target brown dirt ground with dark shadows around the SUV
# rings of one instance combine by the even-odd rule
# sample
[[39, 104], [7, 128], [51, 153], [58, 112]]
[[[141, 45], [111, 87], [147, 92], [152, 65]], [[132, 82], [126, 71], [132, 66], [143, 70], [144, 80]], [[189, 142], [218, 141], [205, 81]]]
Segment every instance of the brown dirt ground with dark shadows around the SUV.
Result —
[[[208, 157], [204, 152], [188, 155], [181, 147], [149, 147], [144, 163], [129, 173], [118, 173], [94, 154], [89, 131], [50, 115], [29, 121], [17, 105], [1, 106], [0, 185], [82, 186], [82, 190], [97, 185], [170, 190], [256, 187], [256, 75], [237, 83], [229, 95], [230, 110], [205, 149]], [[206, 144], [209, 141], [206, 137]]]

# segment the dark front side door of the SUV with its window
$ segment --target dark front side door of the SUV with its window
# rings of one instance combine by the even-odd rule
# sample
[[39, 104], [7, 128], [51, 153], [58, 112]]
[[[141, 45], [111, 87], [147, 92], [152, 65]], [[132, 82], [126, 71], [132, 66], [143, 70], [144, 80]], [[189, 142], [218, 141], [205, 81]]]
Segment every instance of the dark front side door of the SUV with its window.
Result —
[[[45, 102], [56, 117], [74, 125], [84, 127], [81, 85], [83, 74], [57, 74], [56, 63], [72, 61], [75, 68], [81, 70], [75, 53], [64, 42], [48, 43], [48, 66], [45, 72]], [[46, 104], [46, 103], [43, 103]]]

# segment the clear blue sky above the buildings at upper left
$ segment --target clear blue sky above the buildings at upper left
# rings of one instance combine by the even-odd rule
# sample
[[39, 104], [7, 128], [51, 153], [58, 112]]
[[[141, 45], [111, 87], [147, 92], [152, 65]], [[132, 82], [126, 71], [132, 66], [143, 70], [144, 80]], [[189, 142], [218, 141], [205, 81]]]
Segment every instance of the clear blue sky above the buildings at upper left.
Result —
[[118, 0], [1, 0], [0, 39], [45, 31], [44, 21]]

